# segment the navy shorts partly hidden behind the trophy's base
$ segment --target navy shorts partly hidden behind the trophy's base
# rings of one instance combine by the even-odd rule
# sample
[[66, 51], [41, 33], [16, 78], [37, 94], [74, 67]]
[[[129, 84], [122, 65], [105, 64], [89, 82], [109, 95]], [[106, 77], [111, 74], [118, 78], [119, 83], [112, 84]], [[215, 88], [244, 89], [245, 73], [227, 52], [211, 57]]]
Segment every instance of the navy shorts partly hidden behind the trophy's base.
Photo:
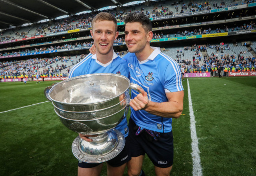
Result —
[[[112, 167], [119, 167], [123, 165], [124, 163], [127, 163], [131, 160], [131, 154], [130, 154], [130, 142], [129, 138], [125, 138], [125, 145], [122, 149], [121, 153], [119, 153], [115, 158], [110, 159], [109, 161], [106, 161], [109, 165]], [[92, 168], [100, 165], [101, 163], [85, 163], [83, 161], [78, 160], [78, 167], [82, 168]]]

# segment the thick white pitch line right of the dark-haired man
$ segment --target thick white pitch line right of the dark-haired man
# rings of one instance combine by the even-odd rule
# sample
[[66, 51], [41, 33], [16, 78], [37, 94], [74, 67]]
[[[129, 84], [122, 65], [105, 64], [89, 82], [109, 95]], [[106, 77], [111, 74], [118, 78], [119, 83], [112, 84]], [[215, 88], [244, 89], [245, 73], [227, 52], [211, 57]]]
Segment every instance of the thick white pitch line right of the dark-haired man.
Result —
[[198, 148], [198, 139], [197, 139], [197, 132], [196, 132], [196, 121], [192, 106], [189, 82], [187, 79], [187, 93], [188, 93], [188, 102], [189, 102], [189, 116], [190, 116], [190, 131], [191, 131], [191, 139], [192, 139], [192, 159], [193, 159], [193, 176], [202, 176], [202, 166], [200, 160], [200, 151]]

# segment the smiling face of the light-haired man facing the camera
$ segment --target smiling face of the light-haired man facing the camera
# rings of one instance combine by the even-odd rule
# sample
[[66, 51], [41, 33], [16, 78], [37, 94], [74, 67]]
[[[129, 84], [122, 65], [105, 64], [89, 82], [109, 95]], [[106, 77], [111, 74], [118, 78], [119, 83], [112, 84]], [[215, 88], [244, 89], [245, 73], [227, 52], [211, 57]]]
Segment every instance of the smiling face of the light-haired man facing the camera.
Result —
[[97, 20], [94, 22], [91, 35], [96, 47], [96, 54], [113, 56], [113, 44], [114, 40], [118, 36], [118, 32], [115, 29], [115, 23], [107, 20]]

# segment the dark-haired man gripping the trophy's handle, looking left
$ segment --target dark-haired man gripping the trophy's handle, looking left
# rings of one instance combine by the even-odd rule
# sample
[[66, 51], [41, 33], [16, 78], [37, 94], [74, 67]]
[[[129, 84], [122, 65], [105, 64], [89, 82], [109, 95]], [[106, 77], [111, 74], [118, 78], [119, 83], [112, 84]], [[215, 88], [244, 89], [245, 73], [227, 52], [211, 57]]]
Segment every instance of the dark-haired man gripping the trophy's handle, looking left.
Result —
[[143, 88], [141, 94], [132, 90], [130, 101], [128, 174], [141, 175], [147, 153], [156, 175], [168, 176], [173, 165], [172, 118], [179, 118], [183, 110], [180, 67], [160, 48], [150, 47], [153, 33], [147, 16], [128, 14], [124, 22], [130, 80]]

